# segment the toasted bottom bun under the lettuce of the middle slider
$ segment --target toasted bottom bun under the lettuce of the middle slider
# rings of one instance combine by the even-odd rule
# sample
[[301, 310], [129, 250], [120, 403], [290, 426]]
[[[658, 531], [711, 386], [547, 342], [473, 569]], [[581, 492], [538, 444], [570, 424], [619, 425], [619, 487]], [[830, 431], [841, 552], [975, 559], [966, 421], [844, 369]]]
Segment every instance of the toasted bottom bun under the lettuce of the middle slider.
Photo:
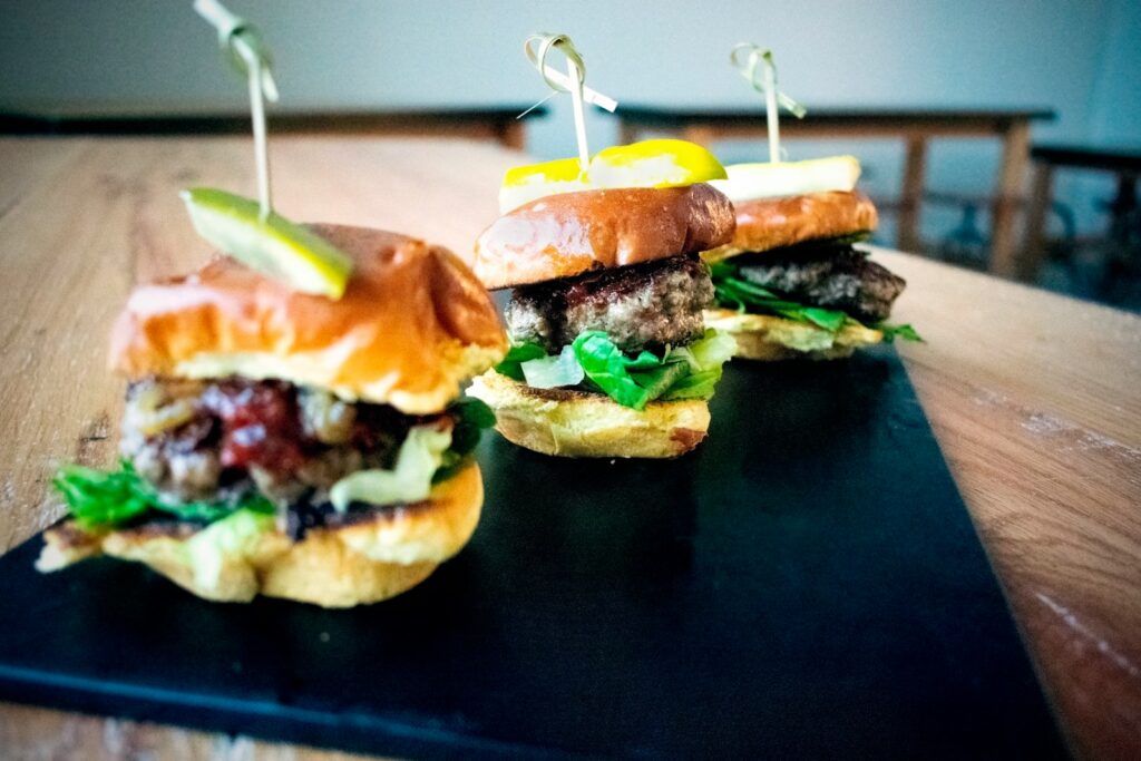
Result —
[[564, 458], [675, 458], [710, 427], [703, 399], [650, 402], [642, 411], [605, 394], [539, 389], [489, 370], [468, 395], [495, 411], [495, 429], [512, 444]]

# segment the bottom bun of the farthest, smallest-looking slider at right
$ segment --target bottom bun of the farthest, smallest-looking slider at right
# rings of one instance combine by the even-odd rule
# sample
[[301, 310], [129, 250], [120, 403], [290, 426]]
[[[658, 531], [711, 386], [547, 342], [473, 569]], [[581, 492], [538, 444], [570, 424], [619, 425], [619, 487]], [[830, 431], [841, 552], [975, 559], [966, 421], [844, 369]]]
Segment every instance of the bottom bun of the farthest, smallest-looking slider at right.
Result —
[[706, 309], [705, 326], [725, 331], [737, 340], [735, 357], [745, 359], [839, 359], [863, 346], [883, 340], [883, 333], [863, 325], [844, 325], [832, 333], [816, 325], [753, 315], [731, 309]]

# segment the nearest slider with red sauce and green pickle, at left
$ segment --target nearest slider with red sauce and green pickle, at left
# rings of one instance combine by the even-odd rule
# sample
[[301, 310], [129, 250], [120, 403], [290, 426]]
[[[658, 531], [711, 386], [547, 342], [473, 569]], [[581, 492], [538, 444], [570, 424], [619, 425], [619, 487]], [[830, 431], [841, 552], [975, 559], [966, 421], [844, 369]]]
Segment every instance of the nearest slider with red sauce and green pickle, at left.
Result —
[[456, 398], [508, 348], [487, 292], [419, 240], [185, 197], [232, 256], [131, 293], [121, 464], [60, 469], [70, 518], [38, 567], [106, 554], [210, 600], [326, 607], [414, 586], [479, 519], [471, 452], [494, 419]]

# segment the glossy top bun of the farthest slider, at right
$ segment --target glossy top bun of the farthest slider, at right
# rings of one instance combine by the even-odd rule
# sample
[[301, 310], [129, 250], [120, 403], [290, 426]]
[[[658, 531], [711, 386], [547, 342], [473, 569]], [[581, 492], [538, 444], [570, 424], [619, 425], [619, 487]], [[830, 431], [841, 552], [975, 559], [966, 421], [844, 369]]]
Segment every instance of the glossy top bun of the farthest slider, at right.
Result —
[[875, 205], [858, 191], [758, 199], [743, 201], [736, 209], [737, 232], [733, 242], [703, 253], [706, 261], [871, 233], [879, 222]]

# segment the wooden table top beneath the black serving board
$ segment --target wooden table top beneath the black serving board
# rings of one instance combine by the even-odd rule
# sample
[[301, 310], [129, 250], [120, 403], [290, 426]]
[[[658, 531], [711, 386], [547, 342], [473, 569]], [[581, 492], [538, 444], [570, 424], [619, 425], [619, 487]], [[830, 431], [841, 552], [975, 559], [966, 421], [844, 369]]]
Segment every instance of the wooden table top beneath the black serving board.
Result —
[[[252, 193], [240, 138], [0, 139], [0, 551], [62, 513], [54, 463], [110, 463], [123, 381], [106, 337], [131, 285], [207, 254], [177, 191]], [[429, 139], [278, 137], [278, 209], [468, 249], [519, 154]], [[1141, 317], [877, 250], [926, 338], [907, 370], [1083, 755], [1141, 756]], [[35, 758], [342, 754], [0, 705]]]

